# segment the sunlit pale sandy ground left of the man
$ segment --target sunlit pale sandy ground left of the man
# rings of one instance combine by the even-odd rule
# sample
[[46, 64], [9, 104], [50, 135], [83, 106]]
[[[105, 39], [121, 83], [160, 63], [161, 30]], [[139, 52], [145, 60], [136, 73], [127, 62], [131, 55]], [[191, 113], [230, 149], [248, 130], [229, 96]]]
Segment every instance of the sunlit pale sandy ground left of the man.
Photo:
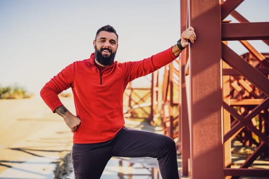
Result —
[[[62, 101], [74, 111], [72, 98]], [[46, 170], [53, 166], [44, 165], [40, 173], [16, 166], [27, 161], [32, 161], [29, 165], [34, 166], [52, 162], [55, 168], [58, 159], [71, 151], [72, 132], [41, 98], [0, 100], [0, 126], [0, 178], [11, 167], [13, 171], [6, 174], [8, 178], [17, 178], [15, 173], [18, 171], [49, 178], [52, 174]]]

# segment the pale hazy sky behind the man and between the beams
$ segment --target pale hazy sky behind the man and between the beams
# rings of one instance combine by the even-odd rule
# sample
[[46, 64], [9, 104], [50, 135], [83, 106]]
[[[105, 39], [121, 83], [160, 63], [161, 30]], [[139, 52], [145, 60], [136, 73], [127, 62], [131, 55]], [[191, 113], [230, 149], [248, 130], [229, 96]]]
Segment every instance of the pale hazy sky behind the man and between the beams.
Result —
[[[268, 7], [269, 0], [245, 0], [236, 10], [251, 22], [269, 21]], [[140, 60], [180, 38], [180, 1], [0, 0], [0, 85], [16, 83], [39, 97], [65, 66], [90, 57], [97, 29], [108, 24], [119, 35], [115, 60]], [[250, 42], [269, 53], [260, 40]]]

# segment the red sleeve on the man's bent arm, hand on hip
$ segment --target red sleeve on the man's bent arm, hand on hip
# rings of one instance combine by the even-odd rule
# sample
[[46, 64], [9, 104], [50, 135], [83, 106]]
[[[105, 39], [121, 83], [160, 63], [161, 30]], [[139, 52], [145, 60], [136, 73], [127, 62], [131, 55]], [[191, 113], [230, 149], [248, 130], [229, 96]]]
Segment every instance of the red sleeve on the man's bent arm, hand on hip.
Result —
[[40, 96], [50, 107], [53, 113], [55, 109], [63, 105], [58, 94], [73, 86], [74, 81], [74, 63], [68, 65], [60, 73], [47, 82], [40, 91]]

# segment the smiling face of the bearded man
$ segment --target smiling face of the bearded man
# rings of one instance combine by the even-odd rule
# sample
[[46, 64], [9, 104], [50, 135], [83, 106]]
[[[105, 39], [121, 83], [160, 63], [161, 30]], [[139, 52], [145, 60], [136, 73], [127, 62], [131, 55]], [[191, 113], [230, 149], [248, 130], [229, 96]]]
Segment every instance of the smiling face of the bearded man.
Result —
[[118, 38], [115, 33], [101, 31], [93, 41], [95, 60], [101, 65], [108, 66], [114, 62], [118, 48]]

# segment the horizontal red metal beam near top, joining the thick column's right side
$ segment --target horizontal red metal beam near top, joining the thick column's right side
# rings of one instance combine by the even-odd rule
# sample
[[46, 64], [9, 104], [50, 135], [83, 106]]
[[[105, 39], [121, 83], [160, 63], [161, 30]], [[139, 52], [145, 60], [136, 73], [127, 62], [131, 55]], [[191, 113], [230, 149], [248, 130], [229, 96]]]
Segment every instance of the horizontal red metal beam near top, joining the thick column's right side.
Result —
[[269, 39], [269, 22], [264, 23], [222, 23], [221, 40]]

